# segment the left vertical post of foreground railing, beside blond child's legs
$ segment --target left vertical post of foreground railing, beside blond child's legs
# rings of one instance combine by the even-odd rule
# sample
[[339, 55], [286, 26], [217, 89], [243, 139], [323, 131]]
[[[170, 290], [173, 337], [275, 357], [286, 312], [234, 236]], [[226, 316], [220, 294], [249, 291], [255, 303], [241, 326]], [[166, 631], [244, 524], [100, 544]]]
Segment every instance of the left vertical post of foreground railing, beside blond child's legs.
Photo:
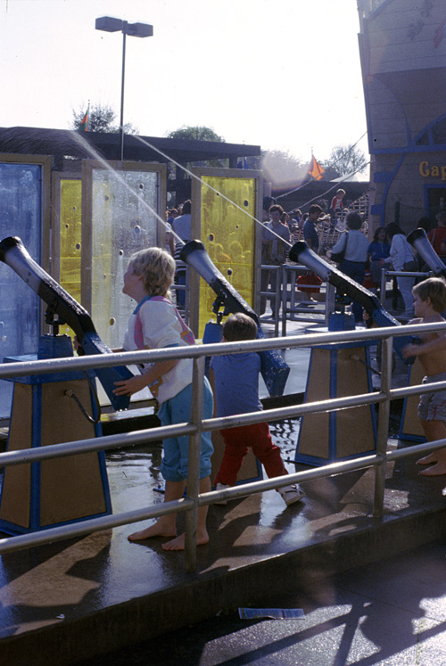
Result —
[[189, 468], [187, 473], [186, 494], [194, 506], [186, 511], [185, 532], [185, 571], [192, 573], [196, 568], [196, 524], [198, 513], [198, 494], [200, 491], [200, 451], [202, 447], [202, 399], [204, 387], [205, 357], [194, 358], [192, 375], [191, 423], [196, 432], [189, 437]]

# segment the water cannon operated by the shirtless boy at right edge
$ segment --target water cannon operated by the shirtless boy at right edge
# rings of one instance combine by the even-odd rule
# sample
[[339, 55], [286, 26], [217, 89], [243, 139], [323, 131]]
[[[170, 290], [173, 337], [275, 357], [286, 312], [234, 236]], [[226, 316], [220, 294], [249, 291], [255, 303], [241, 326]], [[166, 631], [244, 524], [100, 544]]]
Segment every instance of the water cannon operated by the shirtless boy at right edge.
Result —
[[[401, 325], [398, 319], [387, 312], [375, 293], [369, 292], [362, 284], [358, 284], [351, 277], [344, 275], [340, 270], [318, 257], [315, 252], [310, 250], [305, 241], [294, 243], [289, 256], [292, 261], [303, 264], [303, 266], [314, 271], [322, 280], [333, 284], [336, 288], [336, 298], [338, 300], [343, 301], [345, 297], [357, 300], [378, 327]], [[417, 343], [417, 341], [419, 339], [416, 336], [401, 335], [393, 338], [393, 349], [408, 365], [412, 365], [415, 358], [403, 358], [402, 349], [410, 343]]]

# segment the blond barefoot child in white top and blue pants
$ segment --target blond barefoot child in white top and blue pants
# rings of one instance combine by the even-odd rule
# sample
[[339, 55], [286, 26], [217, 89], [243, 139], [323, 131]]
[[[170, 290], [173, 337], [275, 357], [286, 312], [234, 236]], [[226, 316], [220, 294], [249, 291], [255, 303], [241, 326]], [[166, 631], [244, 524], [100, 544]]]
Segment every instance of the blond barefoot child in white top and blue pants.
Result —
[[[194, 335], [184, 324], [178, 311], [169, 301], [169, 286], [175, 274], [175, 261], [168, 252], [152, 247], [136, 252], [124, 275], [122, 292], [135, 299], [136, 309], [128, 321], [123, 349], [162, 349], [194, 344]], [[160, 403], [158, 416], [161, 425], [185, 423], [190, 420], [192, 399], [191, 358], [166, 360], [144, 366], [142, 374], [116, 382], [117, 395], [133, 395], [146, 386]], [[204, 382], [203, 418], [212, 417], [212, 392]], [[202, 434], [200, 459], [200, 492], [211, 490], [211, 433]], [[166, 480], [164, 501], [183, 496], [188, 469], [189, 438], [175, 437], [163, 441], [161, 474]], [[206, 530], [207, 506], [198, 509], [197, 545], [209, 541]], [[185, 535], [177, 537], [176, 514], [163, 515], [145, 530], [130, 534], [130, 541], [150, 537], [170, 537], [165, 550], [183, 550]]]

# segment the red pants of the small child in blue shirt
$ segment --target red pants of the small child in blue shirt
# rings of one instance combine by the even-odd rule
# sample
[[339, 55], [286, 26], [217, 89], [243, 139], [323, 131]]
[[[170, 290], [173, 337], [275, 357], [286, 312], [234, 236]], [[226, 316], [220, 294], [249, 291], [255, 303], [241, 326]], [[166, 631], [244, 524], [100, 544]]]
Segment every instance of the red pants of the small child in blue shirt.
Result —
[[225, 453], [215, 477], [215, 483], [223, 483], [225, 486], [234, 486], [237, 473], [244, 462], [244, 456], [248, 448], [265, 467], [268, 477], [283, 476], [287, 474], [280, 448], [273, 444], [269, 434], [268, 423], [253, 423], [242, 425], [239, 428], [228, 428], [221, 430], [225, 440]]

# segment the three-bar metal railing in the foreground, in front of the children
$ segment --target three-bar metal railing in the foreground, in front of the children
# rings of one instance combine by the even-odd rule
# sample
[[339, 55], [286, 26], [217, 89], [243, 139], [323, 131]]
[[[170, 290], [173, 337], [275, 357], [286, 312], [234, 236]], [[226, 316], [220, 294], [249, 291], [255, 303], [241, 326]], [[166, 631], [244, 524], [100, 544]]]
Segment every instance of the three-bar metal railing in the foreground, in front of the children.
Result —
[[[194, 401], [189, 423], [152, 428], [149, 430], [128, 432], [120, 435], [108, 435], [101, 438], [70, 441], [41, 448], [29, 448], [20, 451], [7, 451], [0, 455], [0, 466], [22, 465], [24, 463], [46, 460], [48, 458], [70, 456], [80, 452], [110, 450], [123, 448], [152, 440], [161, 440], [167, 437], [188, 435], [190, 437], [189, 469], [187, 477], [187, 495], [176, 501], [165, 502], [162, 505], [145, 506], [140, 509], [114, 515], [107, 515], [82, 522], [71, 523], [59, 527], [49, 528], [29, 534], [14, 536], [0, 540], [0, 554], [34, 547], [57, 540], [78, 537], [93, 531], [110, 529], [119, 525], [140, 522], [146, 519], [166, 514], [186, 512], [186, 571], [194, 571], [196, 565], [196, 519], [199, 506], [211, 505], [220, 499], [231, 499], [245, 495], [263, 492], [269, 489], [281, 488], [291, 483], [301, 483], [314, 479], [325, 478], [333, 474], [347, 473], [353, 470], [373, 467], [375, 469], [374, 515], [379, 518], [383, 515], [384, 507], [384, 476], [387, 461], [405, 456], [425, 453], [436, 448], [446, 447], [446, 440], [436, 440], [425, 444], [417, 444], [406, 449], [387, 451], [389, 429], [390, 401], [397, 398], [407, 398], [410, 395], [419, 395], [434, 390], [446, 389], [446, 382], [436, 382], [427, 385], [411, 386], [402, 389], [391, 388], [392, 375], [392, 341], [395, 335], [413, 335], [417, 333], [434, 333], [446, 331], [446, 323], [424, 324], [411, 326], [392, 326], [382, 329], [360, 329], [356, 331], [342, 331], [336, 333], [310, 333], [286, 338], [286, 347], [289, 349], [299, 347], [312, 347], [318, 344], [345, 343], [348, 341], [376, 340], [382, 341], [382, 378], [380, 391], [372, 393], [347, 396], [343, 398], [321, 400], [299, 406], [280, 407], [263, 412], [253, 412], [244, 415], [226, 416], [202, 420], [202, 386], [204, 376], [204, 357], [219, 354], [260, 351], [263, 349], [283, 349], [284, 338], [271, 338], [255, 341], [228, 342], [226, 344], [196, 345], [194, 347], [156, 349], [153, 351], [132, 351], [119, 354], [104, 354], [82, 358], [56, 358], [50, 360], [24, 361], [21, 363], [8, 363], [0, 366], [0, 379], [25, 376], [29, 374], [46, 374], [54, 372], [67, 372], [87, 370], [103, 366], [133, 365], [156, 362], [172, 358], [193, 358], [193, 395]], [[272, 420], [295, 418], [307, 414], [323, 413], [347, 407], [358, 407], [379, 403], [379, 417], [376, 439], [376, 454], [355, 456], [348, 461], [323, 465], [317, 469], [291, 473], [286, 476], [275, 477], [265, 481], [254, 481], [235, 486], [231, 489], [211, 491], [199, 494], [199, 457], [200, 437], [202, 432], [211, 432], [222, 428], [235, 427], [250, 423], [262, 423]]]

